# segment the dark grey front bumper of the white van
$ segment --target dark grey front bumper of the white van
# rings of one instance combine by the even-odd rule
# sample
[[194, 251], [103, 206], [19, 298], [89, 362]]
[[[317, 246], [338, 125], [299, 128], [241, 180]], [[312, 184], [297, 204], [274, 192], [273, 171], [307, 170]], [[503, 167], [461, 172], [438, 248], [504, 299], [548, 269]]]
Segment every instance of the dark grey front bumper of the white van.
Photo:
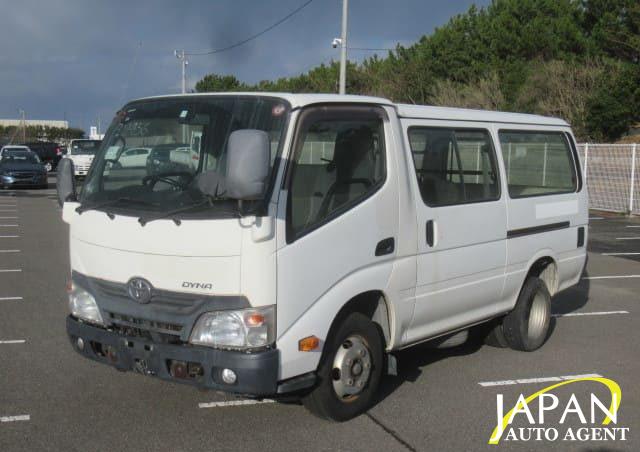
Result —
[[[91, 326], [72, 316], [67, 317], [67, 334], [73, 348], [82, 356], [118, 370], [251, 396], [270, 396], [278, 392], [277, 349], [243, 353], [195, 345], [156, 343]], [[82, 349], [77, 345], [78, 338], [84, 342]], [[178, 378], [171, 373], [171, 365], [175, 362], [192, 363], [201, 372], [197, 376]], [[234, 384], [222, 381], [223, 369], [235, 372], [237, 380]]]

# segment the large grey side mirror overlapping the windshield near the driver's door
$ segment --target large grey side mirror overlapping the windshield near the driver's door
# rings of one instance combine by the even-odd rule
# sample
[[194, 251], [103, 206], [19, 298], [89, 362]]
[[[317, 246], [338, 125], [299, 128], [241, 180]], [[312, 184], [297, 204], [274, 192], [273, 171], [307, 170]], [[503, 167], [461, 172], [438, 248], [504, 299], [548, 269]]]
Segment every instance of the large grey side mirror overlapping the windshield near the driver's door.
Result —
[[236, 130], [227, 148], [226, 194], [232, 199], [261, 199], [271, 167], [269, 135], [262, 130]]

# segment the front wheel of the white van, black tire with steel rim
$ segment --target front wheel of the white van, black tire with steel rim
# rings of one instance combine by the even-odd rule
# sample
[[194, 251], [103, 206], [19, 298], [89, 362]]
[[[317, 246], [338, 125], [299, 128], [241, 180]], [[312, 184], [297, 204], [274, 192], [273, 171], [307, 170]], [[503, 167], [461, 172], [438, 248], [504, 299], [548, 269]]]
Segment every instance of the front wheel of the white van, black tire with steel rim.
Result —
[[375, 402], [383, 368], [383, 339], [378, 327], [363, 314], [349, 314], [327, 340], [318, 367], [318, 384], [302, 403], [323, 419], [352, 419]]

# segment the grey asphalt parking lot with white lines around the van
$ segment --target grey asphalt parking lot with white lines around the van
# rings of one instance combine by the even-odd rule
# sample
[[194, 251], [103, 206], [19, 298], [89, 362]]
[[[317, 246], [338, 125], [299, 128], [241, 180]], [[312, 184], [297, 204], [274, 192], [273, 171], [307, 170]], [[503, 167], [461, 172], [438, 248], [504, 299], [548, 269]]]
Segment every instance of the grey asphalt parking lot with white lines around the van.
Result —
[[[592, 214], [587, 271], [554, 298], [542, 349], [472, 341], [403, 351], [381, 401], [334, 424], [297, 404], [237, 404], [81, 358], [65, 334], [68, 239], [54, 194], [53, 185], [0, 191], [0, 451], [640, 450], [640, 219]], [[487, 445], [498, 394], [512, 407], [520, 393], [578, 375], [620, 385], [626, 441]], [[590, 392], [609, 400], [588, 383], [562, 391], [585, 411]], [[566, 425], [580, 422], [570, 415]]]

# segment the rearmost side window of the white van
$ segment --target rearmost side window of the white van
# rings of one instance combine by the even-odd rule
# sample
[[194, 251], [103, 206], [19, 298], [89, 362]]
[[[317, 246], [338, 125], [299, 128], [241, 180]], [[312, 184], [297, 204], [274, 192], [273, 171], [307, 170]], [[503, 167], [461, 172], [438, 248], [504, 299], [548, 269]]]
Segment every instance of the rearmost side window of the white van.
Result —
[[500, 131], [509, 196], [541, 196], [576, 191], [571, 148], [559, 132]]

